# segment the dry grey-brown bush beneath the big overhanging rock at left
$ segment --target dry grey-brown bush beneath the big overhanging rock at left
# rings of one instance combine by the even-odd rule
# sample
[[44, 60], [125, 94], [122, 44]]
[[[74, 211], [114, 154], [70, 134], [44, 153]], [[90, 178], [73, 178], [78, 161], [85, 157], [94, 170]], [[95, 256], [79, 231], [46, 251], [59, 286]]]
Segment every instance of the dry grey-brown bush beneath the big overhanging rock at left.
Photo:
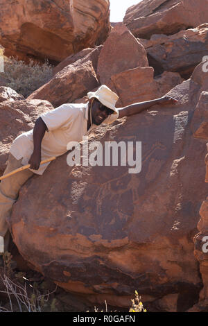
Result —
[[48, 60], [40, 65], [30, 59], [29, 64], [26, 65], [22, 60], [4, 56], [4, 72], [0, 75], [6, 80], [6, 87], [14, 89], [27, 98], [52, 78], [53, 66], [49, 65]]

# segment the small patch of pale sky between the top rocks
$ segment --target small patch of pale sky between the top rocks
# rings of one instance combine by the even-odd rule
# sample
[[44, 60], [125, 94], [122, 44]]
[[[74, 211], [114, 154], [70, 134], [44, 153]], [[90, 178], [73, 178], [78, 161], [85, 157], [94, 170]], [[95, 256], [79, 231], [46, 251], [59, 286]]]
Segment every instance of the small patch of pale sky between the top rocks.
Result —
[[141, 0], [110, 0], [110, 22], [123, 22], [125, 11]]

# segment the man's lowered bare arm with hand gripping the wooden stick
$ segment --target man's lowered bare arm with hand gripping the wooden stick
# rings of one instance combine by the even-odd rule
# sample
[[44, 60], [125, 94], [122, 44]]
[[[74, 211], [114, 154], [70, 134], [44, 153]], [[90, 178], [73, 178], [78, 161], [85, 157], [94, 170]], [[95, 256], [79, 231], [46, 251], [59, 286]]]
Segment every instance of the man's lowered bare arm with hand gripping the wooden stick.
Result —
[[41, 143], [44, 137], [44, 134], [47, 130], [46, 124], [39, 117], [35, 121], [35, 126], [33, 128], [33, 154], [31, 155], [30, 160], [28, 161], [31, 164], [30, 168], [33, 170], [38, 170], [41, 162]]

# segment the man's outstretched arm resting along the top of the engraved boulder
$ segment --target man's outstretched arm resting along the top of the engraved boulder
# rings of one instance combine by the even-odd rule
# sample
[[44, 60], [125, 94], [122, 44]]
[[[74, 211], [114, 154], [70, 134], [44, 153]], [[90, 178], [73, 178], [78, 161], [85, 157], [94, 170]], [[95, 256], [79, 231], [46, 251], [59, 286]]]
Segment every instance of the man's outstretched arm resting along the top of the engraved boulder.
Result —
[[118, 109], [119, 119], [123, 117], [129, 117], [130, 115], [140, 113], [141, 111], [148, 110], [153, 105], [168, 105], [176, 104], [178, 101], [171, 96], [163, 96], [161, 98], [156, 98], [152, 101], [134, 103], [124, 108]]

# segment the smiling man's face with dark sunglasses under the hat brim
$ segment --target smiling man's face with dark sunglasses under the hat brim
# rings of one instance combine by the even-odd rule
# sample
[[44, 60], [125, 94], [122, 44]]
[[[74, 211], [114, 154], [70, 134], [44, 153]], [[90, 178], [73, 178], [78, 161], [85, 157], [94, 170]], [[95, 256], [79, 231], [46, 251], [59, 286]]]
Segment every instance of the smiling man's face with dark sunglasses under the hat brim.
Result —
[[94, 98], [92, 104], [92, 123], [96, 124], [97, 126], [100, 125], [113, 112], [113, 110], [106, 108], [105, 105]]

